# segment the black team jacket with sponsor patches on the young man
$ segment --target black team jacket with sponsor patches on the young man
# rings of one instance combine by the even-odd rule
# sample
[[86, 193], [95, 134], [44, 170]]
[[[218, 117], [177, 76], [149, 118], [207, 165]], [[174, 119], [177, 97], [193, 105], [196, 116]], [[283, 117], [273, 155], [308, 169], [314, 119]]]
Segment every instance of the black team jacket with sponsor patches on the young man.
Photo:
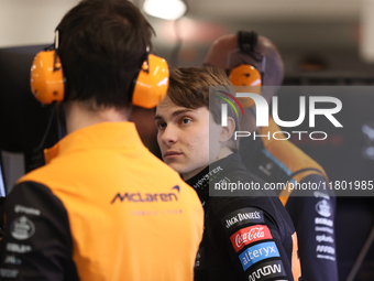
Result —
[[276, 194], [251, 191], [250, 196], [209, 196], [209, 184], [239, 181], [264, 184], [245, 169], [238, 153], [187, 181], [205, 208], [195, 280], [300, 280], [297, 236]]

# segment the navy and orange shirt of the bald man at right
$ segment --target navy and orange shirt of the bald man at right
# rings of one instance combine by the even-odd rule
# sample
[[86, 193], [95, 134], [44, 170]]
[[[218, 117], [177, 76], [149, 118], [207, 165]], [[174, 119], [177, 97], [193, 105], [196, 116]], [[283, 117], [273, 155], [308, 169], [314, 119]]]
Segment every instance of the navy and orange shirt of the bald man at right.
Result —
[[[261, 128], [261, 139], [242, 138], [240, 154], [246, 169], [273, 186], [300, 184], [329, 186], [323, 169], [287, 140], [274, 140], [282, 131], [270, 119], [268, 128]], [[267, 138], [266, 136], [270, 136]], [[282, 137], [277, 137], [282, 138]], [[288, 185], [287, 185], [288, 184]], [[329, 188], [276, 190], [295, 225], [304, 281], [338, 281], [334, 215], [336, 197]], [[290, 192], [289, 192], [290, 191]]]

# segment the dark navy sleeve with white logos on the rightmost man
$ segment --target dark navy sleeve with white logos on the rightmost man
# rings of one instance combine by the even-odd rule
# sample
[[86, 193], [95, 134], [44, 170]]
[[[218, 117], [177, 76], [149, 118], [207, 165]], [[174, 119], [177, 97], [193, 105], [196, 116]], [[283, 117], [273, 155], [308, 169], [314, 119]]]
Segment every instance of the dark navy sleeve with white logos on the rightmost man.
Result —
[[[318, 174], [300, 181], [301, 184], [320, 182], [329, 186]], [[286, 209], [298, 234], [302, 281], [338, 281], [333, 194], [328, 191], [310, 191], [309, 194], [294, 191]]]

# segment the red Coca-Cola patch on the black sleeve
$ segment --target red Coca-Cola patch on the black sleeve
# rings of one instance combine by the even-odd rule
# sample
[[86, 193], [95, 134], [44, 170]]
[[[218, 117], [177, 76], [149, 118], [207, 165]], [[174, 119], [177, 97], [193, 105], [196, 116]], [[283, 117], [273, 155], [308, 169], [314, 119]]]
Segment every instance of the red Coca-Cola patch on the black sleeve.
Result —
[[242, 228], [230, 237], [232, 246], [237, 251], [242, 249], [245, 245], [264, 239], [273, 239], [270, 229], [264, 225]]

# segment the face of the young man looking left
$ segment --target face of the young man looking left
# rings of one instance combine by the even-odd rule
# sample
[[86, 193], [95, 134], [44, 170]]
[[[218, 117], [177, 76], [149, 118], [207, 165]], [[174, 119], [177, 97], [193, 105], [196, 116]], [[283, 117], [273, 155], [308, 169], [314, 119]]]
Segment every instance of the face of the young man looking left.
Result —
[[[206, 107], [179, 107], [168, 96], [156, 108], [157, 142], [163, 160], [185, 180], [202, 171], [218, 155], [220, 126], [209, 117]], [[217, 139], [217, 143], [209, 145], [209, 137]]]

